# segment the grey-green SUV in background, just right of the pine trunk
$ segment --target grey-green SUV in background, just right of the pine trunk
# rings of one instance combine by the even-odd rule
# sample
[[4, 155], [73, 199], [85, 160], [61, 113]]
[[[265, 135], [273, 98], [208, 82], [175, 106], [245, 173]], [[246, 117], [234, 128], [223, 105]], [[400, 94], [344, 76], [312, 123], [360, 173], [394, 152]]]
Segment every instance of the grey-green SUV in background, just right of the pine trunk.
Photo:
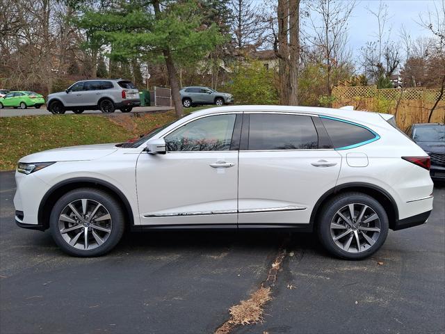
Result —
[[209, 87], [184, 87], [179, 90], [179, 93], [181, 93], [182, 105], [186, 108], [197, 104], [223, 106], [224, 104], [234, 103], [232, 94], [217, 92]]

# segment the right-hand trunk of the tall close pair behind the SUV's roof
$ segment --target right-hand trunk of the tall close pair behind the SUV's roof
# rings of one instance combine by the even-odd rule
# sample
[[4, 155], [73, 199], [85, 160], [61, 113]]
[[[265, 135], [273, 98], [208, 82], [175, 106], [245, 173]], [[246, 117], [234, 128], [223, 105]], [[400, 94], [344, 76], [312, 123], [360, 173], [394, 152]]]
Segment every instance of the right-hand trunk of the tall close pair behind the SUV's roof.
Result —
[[300, 0], [289, 0], [289, 105], [298, 106], [298, 61], [300, 58]]

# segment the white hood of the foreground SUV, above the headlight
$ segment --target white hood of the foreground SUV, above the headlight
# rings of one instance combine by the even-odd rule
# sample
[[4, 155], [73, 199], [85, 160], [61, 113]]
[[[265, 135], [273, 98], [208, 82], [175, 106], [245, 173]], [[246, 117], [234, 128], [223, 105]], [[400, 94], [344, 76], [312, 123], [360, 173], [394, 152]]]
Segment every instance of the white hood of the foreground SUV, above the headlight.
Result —
[[29, 154], [19, 162], [50, 162], [94, 160], [105, 157], [118, 150], [116, 144], [81, 145]]

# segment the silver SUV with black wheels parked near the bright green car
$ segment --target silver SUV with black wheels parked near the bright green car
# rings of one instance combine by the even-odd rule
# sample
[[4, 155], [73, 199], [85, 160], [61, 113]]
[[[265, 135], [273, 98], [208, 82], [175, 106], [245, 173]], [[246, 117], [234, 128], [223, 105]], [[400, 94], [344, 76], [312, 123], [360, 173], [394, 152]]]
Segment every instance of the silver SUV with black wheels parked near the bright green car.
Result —
[[85, 110], [100, 110], [113, 113], [120, 109], [129, 113], [133, 106], [139, 106], [139, 91], [131, 81], [122, 79], [83, 80], [64, 92], [48, 95], [48, 110], [51, 113], [83, 113]]

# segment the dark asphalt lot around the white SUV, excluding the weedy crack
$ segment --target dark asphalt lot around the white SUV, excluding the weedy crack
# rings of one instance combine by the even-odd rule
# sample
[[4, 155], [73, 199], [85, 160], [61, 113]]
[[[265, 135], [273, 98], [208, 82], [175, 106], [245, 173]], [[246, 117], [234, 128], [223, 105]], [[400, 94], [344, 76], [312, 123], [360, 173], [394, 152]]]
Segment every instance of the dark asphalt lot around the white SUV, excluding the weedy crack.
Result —
[[[258, 289], [288, 234], [127, 234], [109, 255], [68, 257], [13, 221], [0, 173], [0, 333], [212, 333]], [[295, 234], [264, 323], [232, 333], [444, 333], [445, 187], [428, 224], [389, 232], [373, 257], [327, 255]], [[378, 264], [381, 262], [382, 264]], [[290, 288], [289, 288], [290, 287]]]

